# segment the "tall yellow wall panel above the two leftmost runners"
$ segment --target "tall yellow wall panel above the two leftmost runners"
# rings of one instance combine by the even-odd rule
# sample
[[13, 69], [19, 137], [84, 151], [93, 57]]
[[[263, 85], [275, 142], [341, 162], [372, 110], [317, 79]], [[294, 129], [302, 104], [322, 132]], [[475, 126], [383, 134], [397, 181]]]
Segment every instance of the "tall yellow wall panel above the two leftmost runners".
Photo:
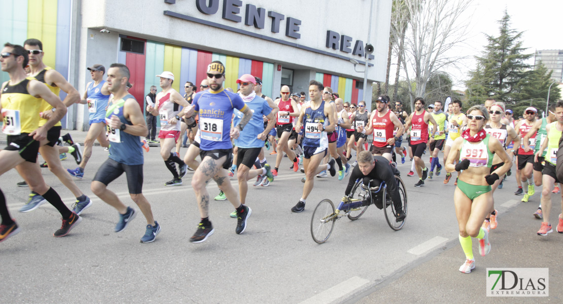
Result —
[[55, 67], [57, 0], [28, 0], [29, 38], [41, 40], [44, 52], [43, 62], [48, 66]]

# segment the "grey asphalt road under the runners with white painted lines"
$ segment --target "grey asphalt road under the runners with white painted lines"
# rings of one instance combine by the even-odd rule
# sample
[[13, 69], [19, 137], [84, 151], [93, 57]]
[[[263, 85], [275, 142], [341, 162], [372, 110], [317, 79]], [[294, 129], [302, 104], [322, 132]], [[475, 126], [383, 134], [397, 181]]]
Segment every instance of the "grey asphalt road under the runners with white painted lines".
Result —
[[[453, 180], [444, 185], [442, 175], [415, 188], [417, 179], [406, 177], [408, 160], [399, 165], [409, 195], [409, 214], [399, 232], [391, 230], [383, 212], [371, 206], [359, 220], [339, 220], [329, 240], [316, 244], [310, 234], [312, 211], [321, 199], [338, 201], [346, 179], [316, 178], [305, 211], [294, 214], [290, 208], [301, 197], [303, 174], [289, 170], [291, 164], [284, 158], [270, 187], [252, 187], [249, 182], [247, 202], [253, 211], [243, 234], [235, 234], [236, 220], [229, 217], [233, 206], [213, 202], [210, 219], [216, 232], [206, 242], [192, 244], [189, 238], [199, 214], [191, 173], [184, 185], [164, 187], [172, 176], [159, 148], [151, 147], [145, 153], [144, 194], [162, 231], [154, 243], [142, 244], [146, 225], [142, 214], [124, 232], [114, 233], [117, 212], [91, 193], [91, 180], [106, 157], [107, 152], [94, 147], [84, 179], [75, 180], [94, 204], [64, 238], [52, 237], [61, 223], [55, 208], [46, 204], [20, 214], [17, 210], [29, 190], [16, 187], [21, 178], [15, 170], [0, 176], [10, 212], [22, 228], [0, 245], [2, 274], [10, 278], [2, 283], [0, 303], [496, 301], [483, 298], [484, 270], [500, 266], [550, 267], [550, 297], [539, 300], [561, 302], [557, 253], [563, 248], [563, 235], [535, 235], [539, 220], [531, 214], [539, 193], [530, 203], [519, 203], [521, 197], [513, 195], [514, 176], [495, 193], [501, 215], [499, 228], [491, 233], [491, 255], [476, 256], [476, 270], [465, 275], [458, 271], [464, 256], [458, 242]], [[274, 156], [267, 160], [272, 164]], [[76, 167], [70, 158], [62, 164]], [[65, 203], [74, 202], [72, 193], [48, 169], [43, 169], [43, 176]], [[231, 183], [236, 185], [236, 179]], [[138, 211], [127, 193], [125, 176], [109, 189]], [[208, 190], [212, 196], [218, 193], [213, 182]], [[557, 197], [554, 194], [554, 202]], [[554, 205], [552, 213], [558, 214]]]

